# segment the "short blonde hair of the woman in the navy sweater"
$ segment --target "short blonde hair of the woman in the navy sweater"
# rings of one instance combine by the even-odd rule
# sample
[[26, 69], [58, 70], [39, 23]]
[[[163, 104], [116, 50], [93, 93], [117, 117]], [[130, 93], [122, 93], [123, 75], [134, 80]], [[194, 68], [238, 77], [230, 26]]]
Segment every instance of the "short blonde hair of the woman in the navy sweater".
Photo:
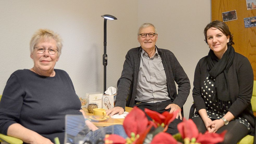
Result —
[[52, 30], [49, 29], [38, 29], [30, 40], [30, 52], [33, 53], [34, 46], [40, 42], [41, 40], [53, 39], [56, 41], [56, 46], [58, 49], [58, 56], [61, 54], [62, 49], [62, 39], [59, 34], [54, 33]]

